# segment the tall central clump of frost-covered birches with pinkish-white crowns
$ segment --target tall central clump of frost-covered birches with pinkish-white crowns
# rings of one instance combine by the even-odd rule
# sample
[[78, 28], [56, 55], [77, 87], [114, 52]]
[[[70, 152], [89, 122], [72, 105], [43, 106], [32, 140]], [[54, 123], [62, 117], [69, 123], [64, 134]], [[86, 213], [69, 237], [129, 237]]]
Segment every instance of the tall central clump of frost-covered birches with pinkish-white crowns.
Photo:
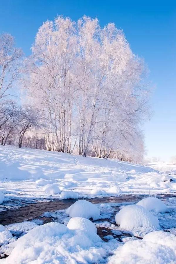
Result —
[[101, 28], [97, 18], [86, 16], [77, 23], [62, 16], [43, 23], [25, 85], [40, 112], [46, 148], [141, 160], [145, 72], [113, 23]]

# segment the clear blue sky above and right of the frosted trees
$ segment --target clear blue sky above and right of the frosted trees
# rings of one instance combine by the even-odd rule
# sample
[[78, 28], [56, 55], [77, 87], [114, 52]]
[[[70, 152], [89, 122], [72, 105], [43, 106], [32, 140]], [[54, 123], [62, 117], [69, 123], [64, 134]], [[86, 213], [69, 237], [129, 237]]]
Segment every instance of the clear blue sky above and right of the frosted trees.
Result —
[[57, 14], [73, 20], [97, 16], [101, 26], [114, 22], [123, 29], [155, 86], [154, 115], [144, 126], [148, 156], [169, 160], [176, 155], [176, 1], [1, 0], [0, 33], [11, 33], [29, 55], [39, 26]]

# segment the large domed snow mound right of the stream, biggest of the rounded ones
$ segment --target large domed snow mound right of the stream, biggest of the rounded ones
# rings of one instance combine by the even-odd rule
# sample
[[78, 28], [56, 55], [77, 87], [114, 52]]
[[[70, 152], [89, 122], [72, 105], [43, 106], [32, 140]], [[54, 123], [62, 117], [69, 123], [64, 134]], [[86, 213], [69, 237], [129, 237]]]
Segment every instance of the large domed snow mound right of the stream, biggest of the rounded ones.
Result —
[[115, 216], [116, 224], [128, 231], [148, 233], [160, 229], [158, 218], [140, 205], [127, 205]]

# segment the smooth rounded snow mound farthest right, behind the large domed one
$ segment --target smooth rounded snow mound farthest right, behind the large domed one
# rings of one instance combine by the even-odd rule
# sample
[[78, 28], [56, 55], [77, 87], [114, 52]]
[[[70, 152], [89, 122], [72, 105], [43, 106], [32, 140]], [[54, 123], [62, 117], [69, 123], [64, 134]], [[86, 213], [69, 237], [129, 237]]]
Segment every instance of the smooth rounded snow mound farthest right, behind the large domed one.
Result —
[[137, 205], [143, 206], [148, 211], [156, 211], [157, 213], [165, 213], [167, 206], [158, 198], [147, 197], [137, 203]]

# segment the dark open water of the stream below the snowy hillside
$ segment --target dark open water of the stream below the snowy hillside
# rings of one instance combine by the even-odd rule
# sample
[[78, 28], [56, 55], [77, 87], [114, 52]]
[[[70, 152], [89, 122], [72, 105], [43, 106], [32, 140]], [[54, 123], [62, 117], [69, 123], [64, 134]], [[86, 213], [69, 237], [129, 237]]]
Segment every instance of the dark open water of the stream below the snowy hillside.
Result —
[[[104, 198], [94, 198], [94, 199], [85, 199], [92, 203], [123, 203], [123, 202], [137, 202], [146, 197], [146, 195], [120, 195], [117, 197], [104, 197]], [[168, 197], [172, 197], [171, 195], [160, 195], [158, 198], [168, 199]], [[67, 200], [59, 200], [55, 199], [50, 202], [38, 202], [33, 203], [31, 205], [27, 205], [23, 207], [19, 207], [17, 209], [1, 211], [0, 212], [0, 224], [8, 225], [19, 223], [22, 221], [28, 221], [39, 216], [43, 215], [45, 212], [53, 212], [56, 210], [62, 210], [68, 208], [70, 205], [75, 203], [77, 199], [67, 199]]]

